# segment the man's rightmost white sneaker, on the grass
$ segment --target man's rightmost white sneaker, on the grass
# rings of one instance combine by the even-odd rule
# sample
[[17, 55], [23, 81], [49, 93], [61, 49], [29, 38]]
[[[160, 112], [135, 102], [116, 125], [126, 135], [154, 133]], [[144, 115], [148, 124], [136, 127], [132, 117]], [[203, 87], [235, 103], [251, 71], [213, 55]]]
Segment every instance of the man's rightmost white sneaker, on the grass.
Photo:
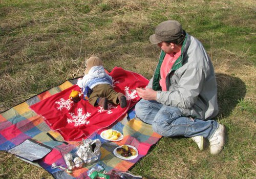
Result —
[[210, 153], [218, 154], [225, 145], [225, 127], [219, 124], [219, 127], [214, 132], [214, 135], [209, 139], [210, 142]]

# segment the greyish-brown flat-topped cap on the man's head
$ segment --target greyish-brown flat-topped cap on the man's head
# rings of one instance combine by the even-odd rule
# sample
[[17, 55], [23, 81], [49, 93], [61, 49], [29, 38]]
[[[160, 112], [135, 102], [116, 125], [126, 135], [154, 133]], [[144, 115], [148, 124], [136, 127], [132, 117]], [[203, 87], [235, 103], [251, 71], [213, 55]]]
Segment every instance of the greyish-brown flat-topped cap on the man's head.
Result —
[[166, 20], [156, 27], [155, 34], [150, 36], [150, 41], [153, 44], [162, 41], [173, 41], [179, 39], [182, 34], [183, 29], [178, 21]]

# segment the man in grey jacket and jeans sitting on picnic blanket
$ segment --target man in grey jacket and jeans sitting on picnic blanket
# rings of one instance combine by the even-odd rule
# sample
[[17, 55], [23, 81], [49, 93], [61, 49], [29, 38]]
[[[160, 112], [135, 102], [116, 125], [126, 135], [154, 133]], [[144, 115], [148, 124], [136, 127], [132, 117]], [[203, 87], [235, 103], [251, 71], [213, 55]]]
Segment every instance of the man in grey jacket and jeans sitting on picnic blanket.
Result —
[[153, 78], [145, 89], [136, 116], [165, 137], [191, 137], [200, 150], [205, 139], [210, 153], [225, 144], [225, 127], [214, 120], [218, 114], [214, 68], [201, 42], [187, 34], [176, 20], [163, 21], [150, 36], [161, 48]]

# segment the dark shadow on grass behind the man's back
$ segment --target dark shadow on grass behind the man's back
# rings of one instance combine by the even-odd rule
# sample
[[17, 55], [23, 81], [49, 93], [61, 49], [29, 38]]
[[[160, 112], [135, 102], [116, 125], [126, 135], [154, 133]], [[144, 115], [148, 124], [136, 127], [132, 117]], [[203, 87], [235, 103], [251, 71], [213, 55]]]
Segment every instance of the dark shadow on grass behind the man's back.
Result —
[[223, 119], [230, 115], [239, 100], [244, 99], [246, 85], [238, 77], [233, 77], [223, 73], [216, 73], [218, 85], [219, 114], [217, 118]]

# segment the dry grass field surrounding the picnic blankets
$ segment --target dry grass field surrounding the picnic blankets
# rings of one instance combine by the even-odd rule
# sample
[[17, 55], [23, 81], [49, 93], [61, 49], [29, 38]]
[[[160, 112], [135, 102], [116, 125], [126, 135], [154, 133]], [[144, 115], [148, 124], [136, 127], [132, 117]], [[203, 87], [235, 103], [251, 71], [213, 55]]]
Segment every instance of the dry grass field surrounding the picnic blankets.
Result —
[[[159, 48], [148, 37], [167, 19], [180, 21], [214, 63], [227, 129], [218, 155], [187, 138], [162, 138], [132, 169], [154, 178], [256, 178], [254, 0], [0, 0], [0, 111], [83, 75], [97, 55], [150, 79]], [[0, 152], [0, 178], [53, 178]]]

